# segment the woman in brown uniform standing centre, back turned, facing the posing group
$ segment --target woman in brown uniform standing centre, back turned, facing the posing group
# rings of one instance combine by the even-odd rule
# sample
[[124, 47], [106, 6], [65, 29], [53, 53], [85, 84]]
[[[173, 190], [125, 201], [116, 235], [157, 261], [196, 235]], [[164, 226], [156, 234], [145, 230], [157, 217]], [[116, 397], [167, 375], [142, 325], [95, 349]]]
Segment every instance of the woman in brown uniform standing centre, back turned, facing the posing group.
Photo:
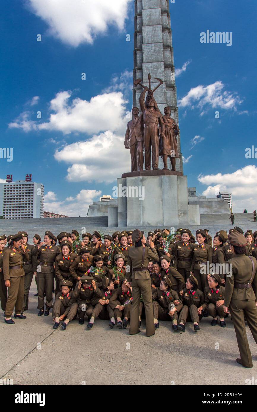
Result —
[[154, 247], [153, 241], [146, 246], [146, 238], [144, 232], [135, 229], [132, 233], [132, 241], [135, 243], [133, 248], [130, 248], [127, 260], [127, 281], [132, 280], [133, 304], [130, 311], [130, 335], [135, 335], [140, 332], [139, 329], [139, 305], [142, 294], [144, 307], [146, 312], [146, 336], [155, 334], [155, 326], [153, 321], [153, 305], [152, 305], [152, 288], [151, 276], [147, 266], [149, 258], [158, 260], [158, 253]]

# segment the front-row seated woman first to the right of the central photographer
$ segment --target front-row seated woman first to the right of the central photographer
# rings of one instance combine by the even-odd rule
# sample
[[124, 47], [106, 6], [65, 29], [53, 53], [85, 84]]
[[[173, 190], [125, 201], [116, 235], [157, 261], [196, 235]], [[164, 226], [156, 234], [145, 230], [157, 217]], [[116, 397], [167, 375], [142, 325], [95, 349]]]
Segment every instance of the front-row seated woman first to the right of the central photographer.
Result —
[[182, 300], [175, 290], [167, 275], [160, 281], [160, 288], [156, 288], [153, 293], [153, 317], [154, 325], [159, 328], [158, 319], [161, 321], [172, 320], [172, 329], [177, 331], [178, 313], [182, 309]]

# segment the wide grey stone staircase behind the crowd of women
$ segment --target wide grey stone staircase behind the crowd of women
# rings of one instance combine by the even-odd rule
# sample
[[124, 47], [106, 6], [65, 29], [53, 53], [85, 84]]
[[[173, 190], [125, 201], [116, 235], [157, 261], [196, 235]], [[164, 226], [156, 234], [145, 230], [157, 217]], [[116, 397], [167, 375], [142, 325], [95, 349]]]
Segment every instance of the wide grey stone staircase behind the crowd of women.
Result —
[[[252, 232], [257, 230], [257, 222], [253, 221], [252, 213], [235, 213], [234, 226], [239, 226], [244, 232], [247, 229], [252, 229]], [[209, 234], [213, 237], [216, 232], [221, 229], [227, 232], [233, 226], [231, 225], [231, 220], [229, 220], [229, 214], [212, 214], [212, 215], [200, 215], [200, 227], [199, 226], [189, 226], [193, 235], [195, 235], [196, 230], [209, 229]], [[170, 225], [170, 227], [172, 224]], [[169, 227], [169, 228], [170, 228]], [[46, 219], [10, 219], [10, 220], [0, 220], [0, 234], [14, 234], [18, 231], [26, 230], [29, 236], [29, 243], [35, 233], [38, 233], [41, 237], [44, 236], [45, 230], [50, 230], [55, 235], [60, 232], [68, 231], [71, 232], [72, 229], [78, 230], [79, 233], [87, 231], [92, 234], [94, 230], [100, 230], [104, 234], [112, 234], [116, 230], [120, 232], [124, 229], [137, 229], [136, 227], [108, 227], [108, 218], [104, 217], [81, 217], [81, 218], [46, 218]], [[153, 231], [156, 227], [145, 226], [141, 227], [145, 233]], [[159, 227], [159, 229], [164, 229], [164, 227]], [[175, 227], [177, 229], [177, 227]]]

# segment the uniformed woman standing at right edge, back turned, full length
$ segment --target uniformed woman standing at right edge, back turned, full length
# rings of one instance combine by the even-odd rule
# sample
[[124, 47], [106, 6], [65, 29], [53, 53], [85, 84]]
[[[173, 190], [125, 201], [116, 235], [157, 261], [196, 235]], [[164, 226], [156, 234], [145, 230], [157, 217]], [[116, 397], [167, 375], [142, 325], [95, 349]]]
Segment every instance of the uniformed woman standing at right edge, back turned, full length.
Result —
[[240, 352], [240, 358], [236, 362], [244, 368], [252, 368], [244, 317], [257, 343], [257, 261], [252, 256], [245, 255], [246, 240], [241, 233], [236, 230], [231, 232], [229, 243], [235, 257], [228, 261], [232, 265], [232, 274], [226, 277], [224, 312], [230, 311], [236, 332]]

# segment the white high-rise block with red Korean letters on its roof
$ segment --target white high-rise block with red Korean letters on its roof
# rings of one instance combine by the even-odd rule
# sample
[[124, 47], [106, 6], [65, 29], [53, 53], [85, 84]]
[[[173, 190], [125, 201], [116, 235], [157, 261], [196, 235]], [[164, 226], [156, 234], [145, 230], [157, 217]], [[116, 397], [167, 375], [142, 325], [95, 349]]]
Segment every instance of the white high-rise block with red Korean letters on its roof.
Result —
[[0, 215], [5, 219], [43, 218], [44, 192], [44, 185], [32, 182], [31, 175], [15, 182], [7, 175], [6, 182], [0, 183]]

